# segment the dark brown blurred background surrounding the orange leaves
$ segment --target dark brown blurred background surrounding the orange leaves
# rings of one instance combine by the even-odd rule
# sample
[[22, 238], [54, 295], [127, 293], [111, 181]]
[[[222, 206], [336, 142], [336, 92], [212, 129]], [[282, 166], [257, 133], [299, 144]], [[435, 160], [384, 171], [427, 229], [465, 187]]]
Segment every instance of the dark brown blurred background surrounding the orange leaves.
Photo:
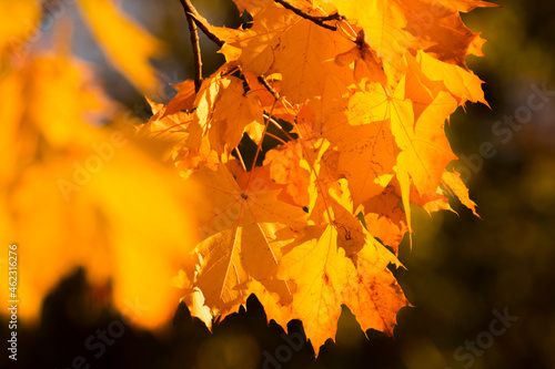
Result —
[[[193, 2], [212, 24], [236, 27], [242, 21], [231, 0]], [[168, 83], [192, 78], [181, 4], [119, 3], [164, 42], [165, 53], [154, 60], [160, 84], [151, 98], [165, 103], [174, 94]], [[82, 356], [91, 368], [555, 368], [555, 3], [498, 3], [503, 8], [463, 14], [488, 40], [486, 58], [468, 57], [467, 64], [485, 81], [491, 109], [468, 104], [447, 127], [453, 151], [466, 158], [454, 166], [463, 173], [481, 218], [457, 203], [452, 206], [458, 214], [430, 217], [413, 209], [412, 249], [407, 239], [400, 248], [406, 270], [395, 274], [414, 307], [397, 315], [394, 340], [376, 331], [364, 337], [345, 309], [336, 344], [326, 342], [314, 362], [310, 347], [297, 350], [283, 339], [283, 328], [265, 325], [253, 298], [213, 335], [191, 320], [184, 306], [171, 326], [153, 334], [122, 325], [120, 312], [78, 269], [46, 299], [39, 326], [18, 328], [18, 362], [9, 365], [87, 368], [75, 361]], [[74, 20], [73, 52], [94, 64], [112, 99], [148, 117], [142, 93], [107, 62], [74, 2], [63, 7], [63, 17]], [[48, 47], [51, 37], [46, 30], [38, 44]], [[223, 58], [201, 39], [209, 75]], [[481, 147], [488, 147], [486, 155]], [[9, 335], [7, 326], [2, 317], [2, 339]], [[103, 330], [119, 332], [121, 327], [121, 338], [100, 339]], [[289, 328], [290, 335], [302, 331], [295, 321]], [[83, 346], [91, 336], [89, 342], [97, 345], [92, 351]], [[102, 347], [105, 355], [91, 355]], [[275, 361], [290, 351], [286, 362]], [[0, 363], [8, 365], [6, 352]]]

